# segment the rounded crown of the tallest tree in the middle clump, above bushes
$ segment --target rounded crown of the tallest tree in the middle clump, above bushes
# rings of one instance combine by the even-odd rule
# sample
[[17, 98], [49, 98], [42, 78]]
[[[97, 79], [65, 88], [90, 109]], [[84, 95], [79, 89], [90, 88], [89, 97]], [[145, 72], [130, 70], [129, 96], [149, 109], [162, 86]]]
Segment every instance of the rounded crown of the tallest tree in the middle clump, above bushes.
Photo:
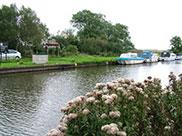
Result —
[[79, 11], [70, 21], [78, 29], [78, 36], [83, 38], [97, 38], [104, 34], [105, 16], [92, 13], [89, 10]]

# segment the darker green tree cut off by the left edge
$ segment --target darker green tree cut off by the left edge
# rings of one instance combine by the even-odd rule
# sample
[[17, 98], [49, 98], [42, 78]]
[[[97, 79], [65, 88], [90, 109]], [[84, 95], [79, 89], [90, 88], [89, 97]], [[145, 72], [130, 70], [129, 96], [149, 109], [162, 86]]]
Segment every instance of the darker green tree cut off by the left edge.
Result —
[[16, 49], [19, 41], [18, 16], [16, 5], [11, 4], [10, 7], [2, 5], [0, 9], [0, 41], [8, 42], [9, 48], [12, 49]]

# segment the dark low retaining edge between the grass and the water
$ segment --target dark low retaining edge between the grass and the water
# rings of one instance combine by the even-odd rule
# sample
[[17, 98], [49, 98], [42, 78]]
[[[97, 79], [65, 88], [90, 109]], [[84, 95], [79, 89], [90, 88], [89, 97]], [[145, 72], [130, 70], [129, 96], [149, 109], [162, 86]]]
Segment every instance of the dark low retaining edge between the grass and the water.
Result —
[[44, 65], [44, 66], [9, 67], [9, 68], [0, 68], [0, 75], [27, 73], [27, 72], [40, 72], [40, 71], [49, 71], [49, 70], [64, 70], [64, 69], [71, 69], [71, 68], [117, 65], [117, 64], [118, 64], [117, 61], [107, 61], [102, 63], [76, 63], [76, 64]]

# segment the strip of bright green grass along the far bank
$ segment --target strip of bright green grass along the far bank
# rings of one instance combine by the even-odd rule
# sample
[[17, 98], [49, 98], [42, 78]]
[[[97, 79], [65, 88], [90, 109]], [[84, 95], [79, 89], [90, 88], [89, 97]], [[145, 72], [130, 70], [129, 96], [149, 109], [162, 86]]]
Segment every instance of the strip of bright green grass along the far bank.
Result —
[[[48, 64], [46, 65], [74, 64], [74, 63], [102, 63], [115, 60], [116, 57], [98, 57], [98, 56], [55, 57], [55, 58], [49, 58]], [[41, 66], [41, 65], [43, 64], [33, 64], [31, 58], [24, 58], [20, 60], [7, 60], [7, 61], [3, 60], [1, 61], [0, 68]]]

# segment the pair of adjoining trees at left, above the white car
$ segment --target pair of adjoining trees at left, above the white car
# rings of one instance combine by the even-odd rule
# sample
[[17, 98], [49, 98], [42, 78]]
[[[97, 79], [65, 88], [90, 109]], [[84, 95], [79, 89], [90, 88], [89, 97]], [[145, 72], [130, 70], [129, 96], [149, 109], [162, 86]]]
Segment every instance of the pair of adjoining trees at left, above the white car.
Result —
[[47, 27], [30, 8], [22, 6], [18, 9], [15, 4], [10, 7], [2, 5], [0, 20], [0, 41], [8, 42], [9, 48], [31, 46], [38, 51], [49, 37]]

